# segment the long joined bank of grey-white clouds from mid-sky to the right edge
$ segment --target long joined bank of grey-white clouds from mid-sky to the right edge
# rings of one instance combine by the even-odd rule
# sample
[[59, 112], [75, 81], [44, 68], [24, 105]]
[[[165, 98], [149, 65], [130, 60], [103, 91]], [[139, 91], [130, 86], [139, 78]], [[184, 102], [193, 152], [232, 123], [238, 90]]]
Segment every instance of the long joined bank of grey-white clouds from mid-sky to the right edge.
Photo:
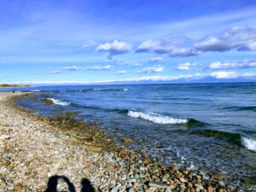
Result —
[[203, 38], [195, 44], [188, 38], [148, 40], [137, 46], [137, 53], [167, 54], [172, 57], [200, 55], [207, 51], [256, 51], [256, 30], [247, 26], [233, 26], [217, 35]]

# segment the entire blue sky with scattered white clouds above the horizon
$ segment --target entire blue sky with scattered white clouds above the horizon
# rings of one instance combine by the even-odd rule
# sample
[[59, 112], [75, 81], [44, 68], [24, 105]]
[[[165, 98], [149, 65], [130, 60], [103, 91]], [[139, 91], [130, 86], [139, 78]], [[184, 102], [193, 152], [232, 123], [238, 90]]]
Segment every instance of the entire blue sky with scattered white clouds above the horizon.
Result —
[[255, 0], [0, 0], [0, 84], [255, 80]]

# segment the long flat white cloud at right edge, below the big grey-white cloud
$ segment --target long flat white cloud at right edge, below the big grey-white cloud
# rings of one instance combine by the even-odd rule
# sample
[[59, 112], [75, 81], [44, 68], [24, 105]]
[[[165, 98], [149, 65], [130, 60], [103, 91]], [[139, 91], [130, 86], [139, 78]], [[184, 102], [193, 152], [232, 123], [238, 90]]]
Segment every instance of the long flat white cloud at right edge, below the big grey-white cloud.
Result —
[[229, 68], [253, 68], [256, 67], [256, 61], [239, 61], [239, 62], [212, 62], [209, 69], [229, 69]]

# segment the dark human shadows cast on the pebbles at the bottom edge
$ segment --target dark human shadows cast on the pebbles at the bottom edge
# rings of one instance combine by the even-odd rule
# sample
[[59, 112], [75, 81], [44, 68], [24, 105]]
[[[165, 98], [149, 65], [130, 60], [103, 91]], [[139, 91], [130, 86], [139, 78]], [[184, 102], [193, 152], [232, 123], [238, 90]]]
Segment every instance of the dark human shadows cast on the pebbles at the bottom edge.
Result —
[[[67, 187], [70, 192], [76, 192], [76, 189], [73, 183], [71, 183], [67, 177], [58, 176], [58, 175], [49, 177], [49, 181], [47, 183], [47, 189], [44, 192], [57, 192], [58, 191], [57, 185], [60, 179], [62, 179], [65, 183], [67, 183]], [[87, 178], [83, 178], [81, 192], [93, 192], [93, 191], [94, 190], [90, 181]]]

